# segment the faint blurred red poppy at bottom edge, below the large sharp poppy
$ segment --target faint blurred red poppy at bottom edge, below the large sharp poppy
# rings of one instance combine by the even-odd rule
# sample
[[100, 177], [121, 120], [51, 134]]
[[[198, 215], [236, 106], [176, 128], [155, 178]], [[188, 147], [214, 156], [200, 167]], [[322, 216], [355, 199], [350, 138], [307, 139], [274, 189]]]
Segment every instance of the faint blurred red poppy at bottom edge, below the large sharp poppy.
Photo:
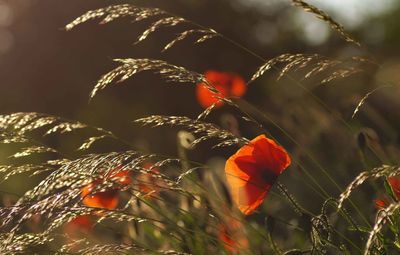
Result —
[[248, 240], [243, 232], [243, 224], [235, 218], [229, 218], [229, 222], [219, 225], [218, 238], [229, 253], [238, 253], [248, 247]]

